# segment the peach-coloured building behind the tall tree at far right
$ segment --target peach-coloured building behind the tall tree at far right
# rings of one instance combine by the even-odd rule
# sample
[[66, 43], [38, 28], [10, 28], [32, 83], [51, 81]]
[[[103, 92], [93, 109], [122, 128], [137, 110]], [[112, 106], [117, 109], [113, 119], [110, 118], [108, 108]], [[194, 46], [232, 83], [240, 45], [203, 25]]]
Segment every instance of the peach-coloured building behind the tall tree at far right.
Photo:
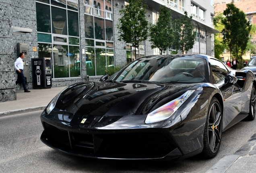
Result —
[[[233, 4], [242, 10], [246, 14], [246, 18], [248, 21], [250, 21], [251, 24], [256, 24], [256, 1], [255, 0], [214, 0], [214, 10], [215, 12], [223, 13], [226, 9], [226, 4], [229, 4], [233, 2]], [[253, 34], [251, 36], [250, 41], [252, 42], [252, 45], [256, 45], [256, 35]], [[244, 60], [250, 60], [250, 58], [254, 57], [256, 55], [252, 54], [250, 50], [246, 51], [246, 54], [244, 54], [243, 59]], [[221, 59], [223, 61], [227, 61], [227, 59], [231, 60], [230, 52], [228, 50], [225, 50], [223, 54], [221, 55]]]

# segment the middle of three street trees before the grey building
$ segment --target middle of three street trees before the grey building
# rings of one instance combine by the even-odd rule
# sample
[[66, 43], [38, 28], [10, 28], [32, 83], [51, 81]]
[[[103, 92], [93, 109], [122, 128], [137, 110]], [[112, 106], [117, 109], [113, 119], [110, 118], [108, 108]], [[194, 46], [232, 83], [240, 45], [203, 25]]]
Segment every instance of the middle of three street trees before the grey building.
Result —
[[151, 48], [159, 48], [160, 54], [172, 46], [173, 30], [171, 28], [171, 10], [166, 6], [160, 8], [156, 24], [150, 26]]

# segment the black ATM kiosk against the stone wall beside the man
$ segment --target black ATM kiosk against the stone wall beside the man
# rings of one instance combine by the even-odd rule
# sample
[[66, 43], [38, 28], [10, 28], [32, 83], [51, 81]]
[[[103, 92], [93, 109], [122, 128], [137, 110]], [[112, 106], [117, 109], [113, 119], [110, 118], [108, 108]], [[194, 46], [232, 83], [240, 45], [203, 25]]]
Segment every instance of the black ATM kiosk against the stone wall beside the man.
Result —
[[52, 59], [32, 58], [33, 89], [52, 87]]

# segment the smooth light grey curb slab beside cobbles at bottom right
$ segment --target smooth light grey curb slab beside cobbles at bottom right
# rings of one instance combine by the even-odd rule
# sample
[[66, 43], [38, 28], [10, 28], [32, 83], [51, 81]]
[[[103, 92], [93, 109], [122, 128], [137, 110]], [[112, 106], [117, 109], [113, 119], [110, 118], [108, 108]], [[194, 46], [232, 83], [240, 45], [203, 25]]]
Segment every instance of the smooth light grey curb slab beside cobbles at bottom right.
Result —
[[239, 155], [225, 155], [205, 173], [224, 173], [238, 157]]

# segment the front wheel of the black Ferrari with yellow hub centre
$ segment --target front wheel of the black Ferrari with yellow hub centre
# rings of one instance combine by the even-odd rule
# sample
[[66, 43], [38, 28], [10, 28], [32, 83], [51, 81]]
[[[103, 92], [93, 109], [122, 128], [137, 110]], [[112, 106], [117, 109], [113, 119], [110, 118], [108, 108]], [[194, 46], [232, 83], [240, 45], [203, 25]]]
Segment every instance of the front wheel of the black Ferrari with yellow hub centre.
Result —
[[219, 152], [222, 135], [222, 110], [215, 97], [211, 100], [204, 127], [203, 157], [211, 159]]

